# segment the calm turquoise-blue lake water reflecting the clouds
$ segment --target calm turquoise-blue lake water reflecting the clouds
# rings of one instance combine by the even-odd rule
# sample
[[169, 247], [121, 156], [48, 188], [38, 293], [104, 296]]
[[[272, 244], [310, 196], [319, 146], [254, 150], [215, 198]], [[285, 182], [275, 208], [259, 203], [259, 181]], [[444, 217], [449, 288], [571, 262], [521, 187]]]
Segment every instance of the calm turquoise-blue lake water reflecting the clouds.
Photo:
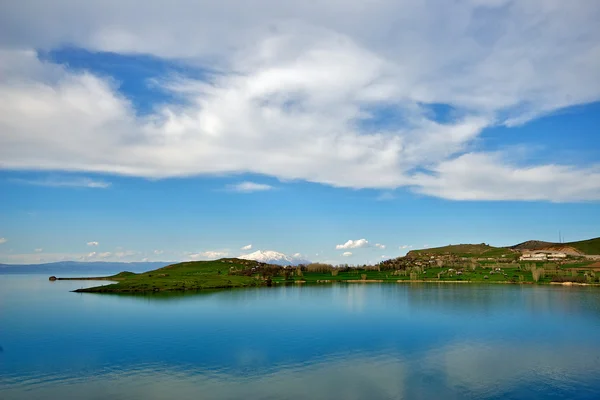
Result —
[[600, 399], [600, 288], [96, 284], [0, 275], [0, 399]]

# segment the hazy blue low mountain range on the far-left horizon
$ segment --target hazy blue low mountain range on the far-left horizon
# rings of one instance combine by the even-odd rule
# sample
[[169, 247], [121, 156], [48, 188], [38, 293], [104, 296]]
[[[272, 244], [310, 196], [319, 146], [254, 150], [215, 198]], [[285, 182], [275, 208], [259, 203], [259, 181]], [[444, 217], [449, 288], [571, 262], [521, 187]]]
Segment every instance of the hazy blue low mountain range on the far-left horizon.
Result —
[[162, 268], [172, 262], [78, 262], [60, 261], [47, 264], [0, 264], [0, 274], [102, 274], [121, 271], [145, 272]]

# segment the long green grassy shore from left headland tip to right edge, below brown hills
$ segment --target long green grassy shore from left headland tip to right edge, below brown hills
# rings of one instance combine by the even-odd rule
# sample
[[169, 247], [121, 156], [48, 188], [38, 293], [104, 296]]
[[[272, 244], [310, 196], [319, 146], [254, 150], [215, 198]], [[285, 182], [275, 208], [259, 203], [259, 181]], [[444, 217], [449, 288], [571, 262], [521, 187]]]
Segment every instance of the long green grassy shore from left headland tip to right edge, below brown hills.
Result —
[[[449, 267], [405, 267], [381, 270], [367, 268], [333, 268], [323, 264], [304, 268], [283, 268], [255, 261], [221, 259], [173, 264], [140, 274], [122, 272], [100, 279], [116, 283], [77, 292], [138, 293], [272, 286], [299, 283], [367, 283], [367, 282], [488, 282], [488, 283], [550, 283], [600, 282], [592, 271], [573, 270], [583, 265], [559, 268], [555, 264], [494, 264], [469, 263]], [[60, 279], [60, 278], [59, 278]], [[69, 278], [75, 279], [75, 278]], [[93, 278], [85, 278], [93, 279]]]

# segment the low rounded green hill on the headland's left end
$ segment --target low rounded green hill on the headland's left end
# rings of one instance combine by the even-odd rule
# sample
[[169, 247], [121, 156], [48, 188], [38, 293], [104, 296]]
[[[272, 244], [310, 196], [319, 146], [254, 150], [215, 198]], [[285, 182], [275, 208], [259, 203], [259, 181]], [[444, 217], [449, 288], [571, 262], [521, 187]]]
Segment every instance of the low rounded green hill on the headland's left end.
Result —
[[117, 283], [77, 291], [127, 293], [262, 286], [265, 285], [265, 282], [262, 279], [257, 279], [252, 273], [265, 267], [268, 266], [263, 263], [237, 258], [216, 261], [191, 261], [140, 274], [121, 272], [117, 275], [101, 278], [114, 280]]

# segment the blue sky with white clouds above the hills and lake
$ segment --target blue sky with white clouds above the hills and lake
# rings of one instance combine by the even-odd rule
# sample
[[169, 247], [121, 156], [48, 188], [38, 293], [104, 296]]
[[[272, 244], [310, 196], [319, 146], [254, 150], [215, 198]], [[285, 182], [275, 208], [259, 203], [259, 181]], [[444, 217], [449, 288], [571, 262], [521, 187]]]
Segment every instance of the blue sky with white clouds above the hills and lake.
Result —
[[0, 4], [0, 263], [600, 236], [595, 0]]

